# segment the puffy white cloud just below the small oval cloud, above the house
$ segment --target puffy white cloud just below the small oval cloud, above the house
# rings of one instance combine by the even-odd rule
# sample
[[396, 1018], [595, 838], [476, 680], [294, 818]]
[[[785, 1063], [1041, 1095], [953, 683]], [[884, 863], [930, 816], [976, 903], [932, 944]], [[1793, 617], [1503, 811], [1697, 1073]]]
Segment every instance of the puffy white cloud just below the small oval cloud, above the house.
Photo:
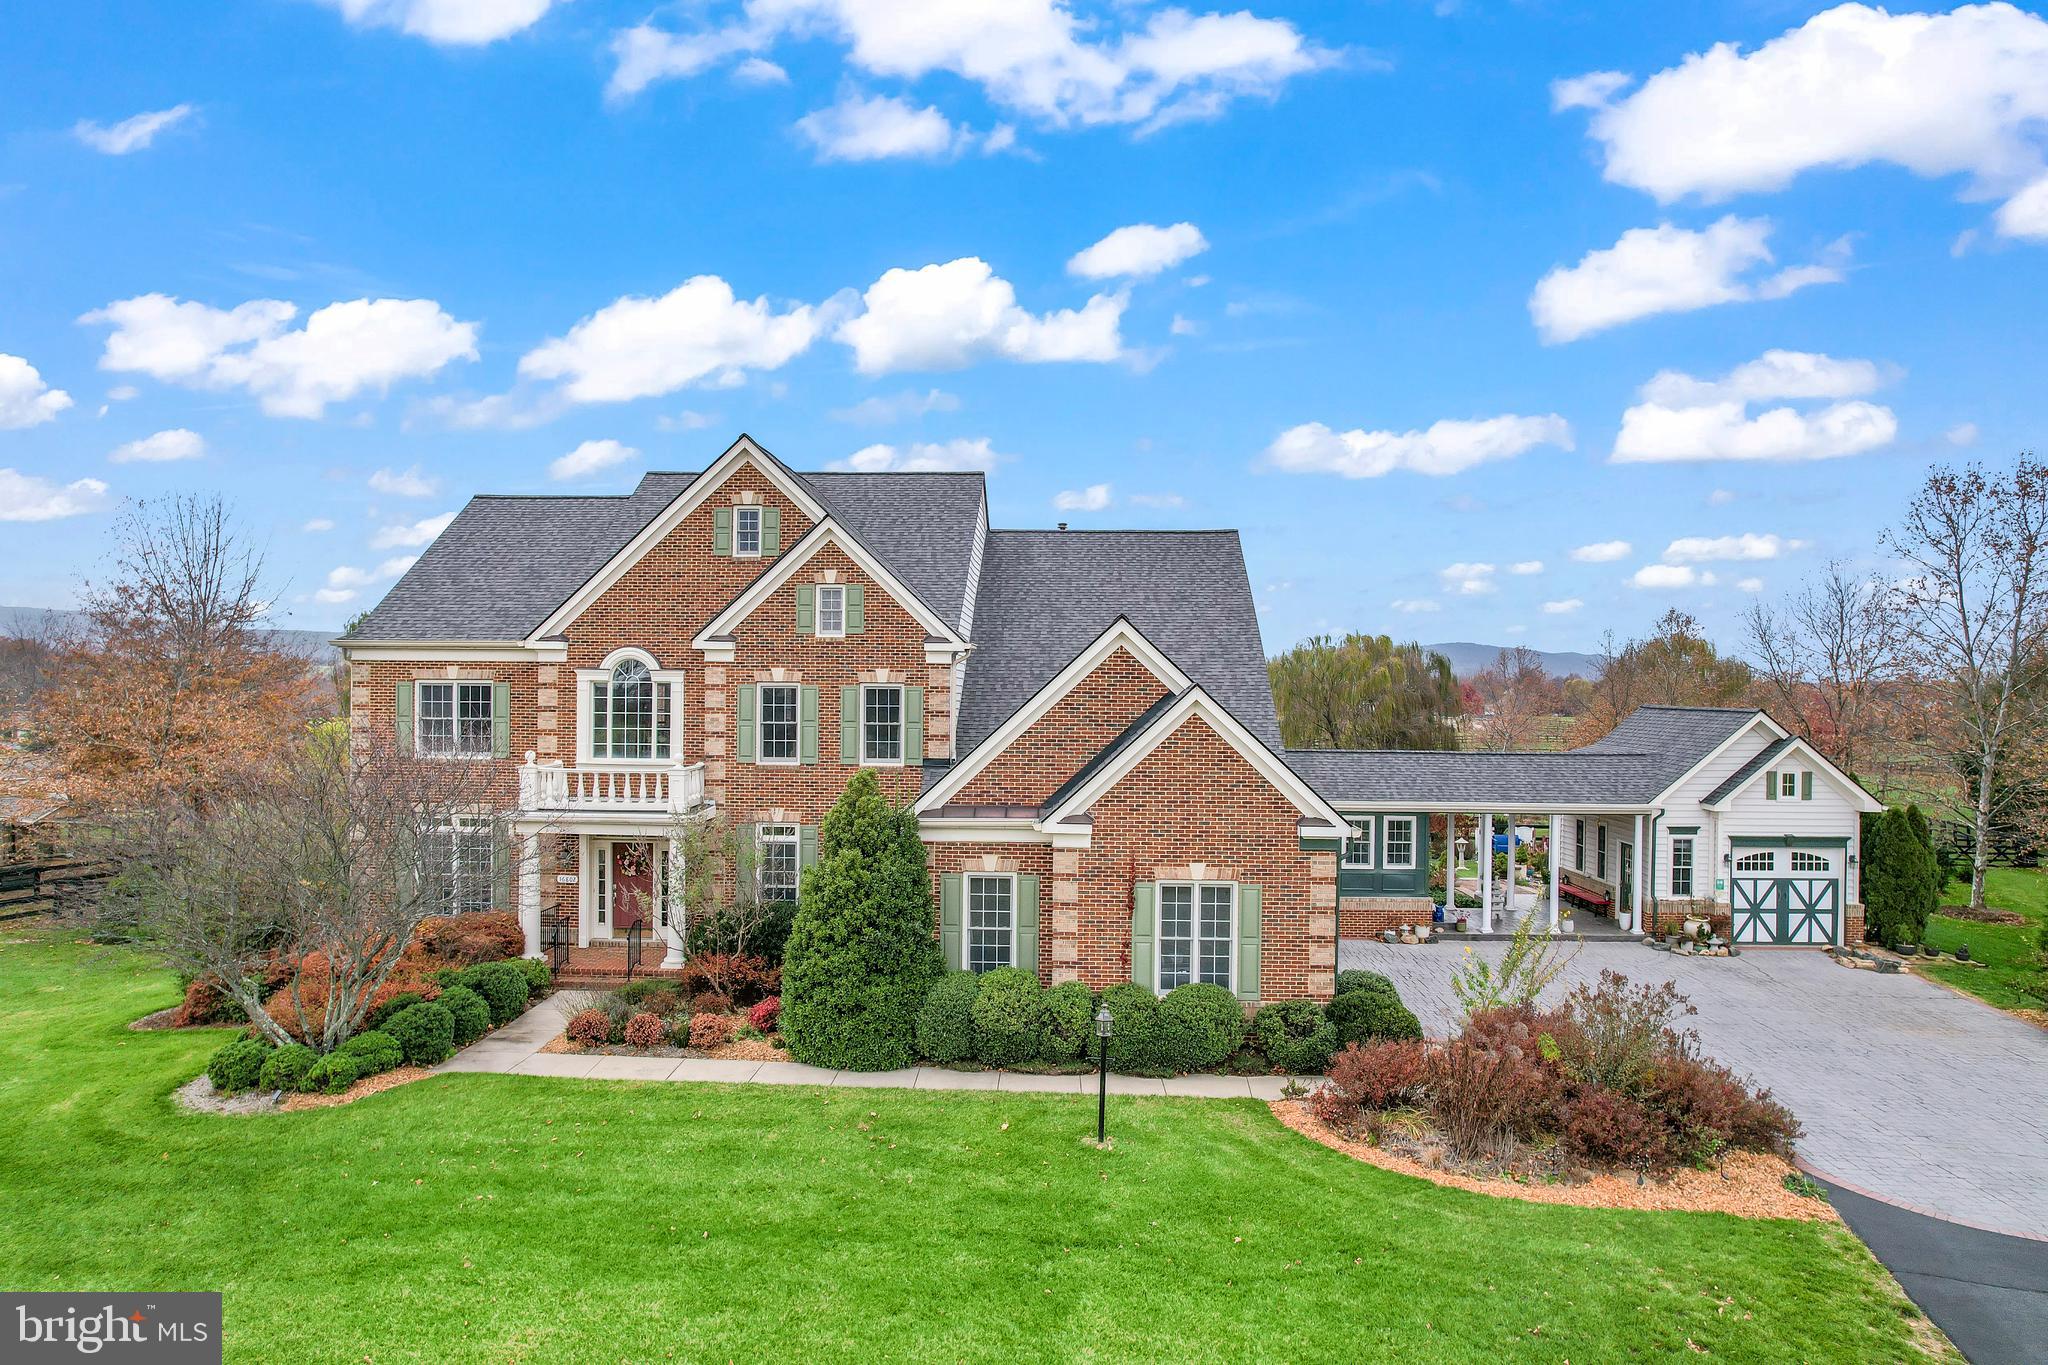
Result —
[[948, 370], [981, 356], [1004, 360], [1116, 360], [1122, 295], [1096, 295], [1079, 309], [1032, 315], [1016, 289], [977, 256], [922, 270], [889, 270], [862, 295], [866, 309], [840, 323], [862, 375]]

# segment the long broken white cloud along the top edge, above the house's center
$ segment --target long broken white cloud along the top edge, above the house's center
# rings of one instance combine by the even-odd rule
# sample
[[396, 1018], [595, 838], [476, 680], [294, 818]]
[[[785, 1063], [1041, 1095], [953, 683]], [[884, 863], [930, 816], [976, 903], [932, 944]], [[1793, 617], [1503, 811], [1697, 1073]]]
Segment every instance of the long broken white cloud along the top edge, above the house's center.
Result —
[[1243, 10], [1165, 8], [1116, 31], [1108, 16], [1079, 18], [1061, 0], [748, 0], [723, 29], [639, 25], [614, 35], [608, 94], [633, 96], [657, 80], [760, 55], [784, 37], [838, 39], [870, 78], [950, 72], [1044, 127], [1139, 125], [1141, 133], [1274, 98], [1288, 80], [1339, 57], [1286, 20]]

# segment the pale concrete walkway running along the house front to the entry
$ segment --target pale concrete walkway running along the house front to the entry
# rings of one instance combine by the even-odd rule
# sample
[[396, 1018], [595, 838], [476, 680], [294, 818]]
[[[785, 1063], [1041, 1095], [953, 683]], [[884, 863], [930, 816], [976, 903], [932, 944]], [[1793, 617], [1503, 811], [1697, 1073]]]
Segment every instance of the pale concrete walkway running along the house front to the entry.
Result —
[[[608, 1056], [541, 1052], [590, 1001], [580, 990], [557, 990], [524, 1015], [463, 1048], [436, 1066], [440, 1072], [500, 1072], [514, 1076], [578, 1076], [588, 1081], [723, 1081], [729, 1085], [836, 1085], [895, 1087], [903, 1091], [1030, 1091], [1038, 1095], [1094, 1095], [1096, 1074], [1034, 1076], [1018, 1070], [829, 1070], [803, 1062], [727, 1062], [715, 1058]], [[1305, 1076], [1305, 1083], [1321, 1076]], [[1280, 1099], [1286, 1076], [1110, 1076], [1110, 1095], [1180, 1095], [1188, 1099]]]

